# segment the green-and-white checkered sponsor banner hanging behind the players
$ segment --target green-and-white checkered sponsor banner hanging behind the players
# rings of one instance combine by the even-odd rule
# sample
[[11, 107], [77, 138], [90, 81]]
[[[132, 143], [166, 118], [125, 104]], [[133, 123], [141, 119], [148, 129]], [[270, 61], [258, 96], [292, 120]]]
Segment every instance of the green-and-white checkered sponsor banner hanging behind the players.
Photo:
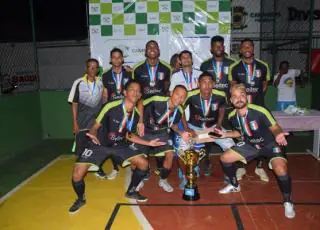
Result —
[[90, 0], [91, 57], [109, 67], [110, 50], [124, 52], [129, 65], [143, 60], [148, 40], [159, 42], [161, 59], [184, 49], [193, 53], [194, 67], [211, 56], [210, 38], [225, 38], [230, 50], [230, 0]]

